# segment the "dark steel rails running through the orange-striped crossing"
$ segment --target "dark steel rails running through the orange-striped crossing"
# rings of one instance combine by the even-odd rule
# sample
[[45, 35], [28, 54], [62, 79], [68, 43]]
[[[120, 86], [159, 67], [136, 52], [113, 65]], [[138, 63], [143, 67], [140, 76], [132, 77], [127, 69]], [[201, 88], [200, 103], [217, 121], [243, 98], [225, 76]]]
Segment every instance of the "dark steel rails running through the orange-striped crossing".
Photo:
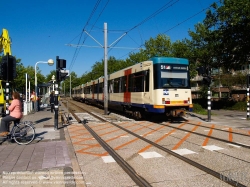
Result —
[[[110, 120], [107, 120], [104, 117], [100, 117], [100, 115], [95, 115], [95, 114], [93, 114], [93, 112], [90, 112], [90, 111], [86, 110], [86, 108], [83, 108], [79, 104], [76, 104], [76, 102], [70, 101], [70, 105], [74, 105], [74, 107], [79, 108], [79, 110], [87, 112], [87, 113], [89, 113], [89, 115], [93, 115], [95, 118], [99, 119], [101, 122], [106, 122], [106, 123], [112, 124], [113, 126], [119, 128], [119, 129], [122, 129], [123, 131], [127, 132], [128, 134], [133, 135], [134, 137], [148, 143], [150, 146], [154, 146], [154, 147], [164, 151], [165, 153], [168, 153], [168, 154], [188, 163], [189, 165], [194, 166], [194, 167], [198, 168], [199, 170], [216, 177], [219, 180], [221, 180], [225, 183], [228, 183], [231, 186], [238, 186], [238, 187], [245, 186], [244, 184], [240, 183], [239, 181], [233, 180], [232, 178], [229, 178], [226, 175], [222, 175], [221, 173], [219, 173], [213, 169], [210, 169], [209, 167], [206, 167], [205, 165], [202, 165], [202, 164], [200, 164], [196, 161], [193, 161], [187, 157], [184, 157], [180, 154], [177, 154], [176, 152], [172, 151], [171, 149], [168, 149], [162, 145], [159, 145], [158, 143], [155, 143], [154, 141], [151, 141], [151, 140], [145, 138], [144, 136], [138, 135], [138, 134], [128, 130], [127, 128], [118, 125], [115, 122], [111, 122]], [[77, 119], [78, 123], [82, 123], [84, 125], [84, 127], [92, 134], [92, 136], [99, 142], [99, 144], [116, 160], [116, 162], [123, 168], [123, 170], [131, 177], [131, 179], [133, 179], [133, 181], [138, 186], [151, 186], [151, 184], [147, 180], [145, 180], [142, 176], [140, 176], [133, 167], [131, 167], [111, 146], [109, 146], [105, 142], [105, 140], [103, 140], [90, 126], [88, 126], [86, 120], [79, 119], [78, 116], [74, 114], [75, 111], [73, 111], [72, 109], [69, 109], [69, 111], [75, 117], [75, 119]], [[188, 123], [188, 122], [186, 122], [186, 123]], [[163, 125], [165, 125], [165, 124], [163, 124]], [[169, 125], [169, 124], [168, 124], [168, 127], [179, 129], [179, 128], [176, 128], [174, 125]], [[184, 130], [184, 129], [182, 129], [182, 130], [185, 132], [194, 133], [196, 135], [206, 136], [204, 134], [192, 132], [189, 130]], [[220, 139], [220, 138], [214, 137], [213, 139], [228, 143], [228, 141]], [[230, 143], [232, 143], [232, 142], [230, 142]], [[239, 145], [239, 144], [235, 143], [235, 145]], [[245, 148], [249, 149], [249, 146], [245, 146]]]

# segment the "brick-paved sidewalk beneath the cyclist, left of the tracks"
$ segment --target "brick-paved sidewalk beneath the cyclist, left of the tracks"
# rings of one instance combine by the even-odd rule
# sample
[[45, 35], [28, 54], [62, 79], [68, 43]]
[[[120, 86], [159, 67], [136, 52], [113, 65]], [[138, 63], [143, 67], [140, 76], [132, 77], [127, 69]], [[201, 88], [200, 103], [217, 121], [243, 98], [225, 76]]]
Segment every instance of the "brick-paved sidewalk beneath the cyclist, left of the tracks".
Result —
[[0, 186], [76, 186], [75, 161], [60, 115], [58, 130], [54, 130], [54, 113], [49, 107], [24, 116], [22, 121], [34, 122], [36, 137], [29, 145], [0, 139]]

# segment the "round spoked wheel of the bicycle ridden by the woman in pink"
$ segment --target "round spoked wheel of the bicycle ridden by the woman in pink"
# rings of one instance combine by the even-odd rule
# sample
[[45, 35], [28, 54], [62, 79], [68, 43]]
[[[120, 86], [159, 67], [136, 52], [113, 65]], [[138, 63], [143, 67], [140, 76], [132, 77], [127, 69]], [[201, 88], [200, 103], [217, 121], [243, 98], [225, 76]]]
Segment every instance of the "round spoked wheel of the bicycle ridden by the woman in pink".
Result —
[[30, 124], [19, 124], [14, 129], [13, 138], [20, 145], [29, 144], [35, 138], [35, 129]]

